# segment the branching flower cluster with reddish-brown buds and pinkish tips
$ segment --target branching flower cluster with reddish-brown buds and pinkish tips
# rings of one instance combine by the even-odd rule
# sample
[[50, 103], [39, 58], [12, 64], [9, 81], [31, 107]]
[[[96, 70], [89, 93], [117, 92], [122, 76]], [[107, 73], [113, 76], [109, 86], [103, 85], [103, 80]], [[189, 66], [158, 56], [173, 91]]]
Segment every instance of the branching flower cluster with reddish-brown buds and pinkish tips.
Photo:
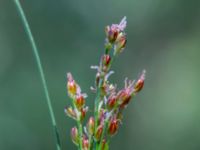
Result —
[[82, 122], [88, 111], [85, 105], [87, 95], [82, 93], [80, 86], [71, 73], [67, 73], [67, 91], [72, 106], [65, 108], [67, 116], [77, 121], [77, 127], [71, 129], [71, 139], [79, 150], [108, 150], [109, 139], [118, 131], [122, 122], [123, 110], [144, 85], [145, 71], [137, 81], [125, 79], [123, 89], [117, 91], [116, 85], [109, 82], [108, 78], [114, 72], [111, 65], [126, 46], [126, 17], [119, 24], [107, 26], [105, 52], [96, 69], [95, 87], [91, 90], [96, 93], [94, 100], [94, 116], [89, 117], [86, 126]]

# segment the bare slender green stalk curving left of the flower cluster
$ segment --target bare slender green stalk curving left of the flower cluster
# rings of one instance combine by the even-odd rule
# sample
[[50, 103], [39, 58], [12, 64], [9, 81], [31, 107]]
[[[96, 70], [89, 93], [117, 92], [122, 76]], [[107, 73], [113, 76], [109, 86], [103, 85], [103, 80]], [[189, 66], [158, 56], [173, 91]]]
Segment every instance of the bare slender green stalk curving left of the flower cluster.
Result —
[[23, 22], [24, 28], [26, 30], [26, 33], [27, 33], [27, 35], [29, 37], [30, 44], [32, 46], [32, 50], [33, 50], [33, 53], [34, 53], [34, 56], [35, 56], [35, 59], [36, 59], [36, 63], [37, 63], [37, 66], [38, 66], [38, 70], [39, 70], [39, 73], [40, 73], [40, 77], [41, 77], [41, 80], [42, 80], [42, 85], [43, 85], [45, 96], [46, 96], [46, 102], [47, 102], [47, 105], [48, 105], [48, 108], [49, 108], [49, 114], [50, 114], [50, 117], [51, 117], [51, 122], [52, 122], [52, 125], [53, 125], [53, 130], [55, 132], [56, 148], [57, 148], [57, 150], [61, 150], [59, 133], [58, 133], [58, 129], [57, 129], [57, 125], [56, 125], [56, 120], [55, 120], [55, 116], [54, 116], [54, 112], [53, 112], [51, 100], [50, 100], [50, 97], [49, 97], [47, 83], [46, 83], [46, 80], [45, 80], [45, 75], [44, 75], [44, 71], [43, 71], [43, 68], [42, 68], [41, 61], [40, 61], [38, 49], [37, 49], [37, 46], [35, 44], [35, 40], [33, 38], [33, 35], [31, 33], [31, 29], [29, 27], [28, 21], [26, 19], [26, 16], [24, 14], [24, 11], [22, 9], [22, 6], [21, 6], [19, 0], [14, 0], [14, 2], [16, 4], [18, 13], [19, 13], [19, 15], [20, 15], [20, 17], [22, 19], [22, 22]]

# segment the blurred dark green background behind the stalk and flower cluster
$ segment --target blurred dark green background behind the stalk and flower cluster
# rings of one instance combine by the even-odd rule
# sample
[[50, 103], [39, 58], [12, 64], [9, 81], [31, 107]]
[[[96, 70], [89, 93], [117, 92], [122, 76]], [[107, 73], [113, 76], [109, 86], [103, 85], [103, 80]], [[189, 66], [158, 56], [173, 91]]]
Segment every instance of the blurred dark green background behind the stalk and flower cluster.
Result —
[[[66, 117], [66, 72], [92, 107], [104, 27], [127, 16], [127, 48], [113, 65], [118, 87], [147, 70], [112, 150], [200, 149], [200, 1], [21, 0], [44, 67], [63, 150], [75, 150]], [[0, 150], [55, 150], [32, 49], [12, 0], [0, 0]]]

